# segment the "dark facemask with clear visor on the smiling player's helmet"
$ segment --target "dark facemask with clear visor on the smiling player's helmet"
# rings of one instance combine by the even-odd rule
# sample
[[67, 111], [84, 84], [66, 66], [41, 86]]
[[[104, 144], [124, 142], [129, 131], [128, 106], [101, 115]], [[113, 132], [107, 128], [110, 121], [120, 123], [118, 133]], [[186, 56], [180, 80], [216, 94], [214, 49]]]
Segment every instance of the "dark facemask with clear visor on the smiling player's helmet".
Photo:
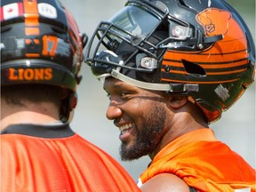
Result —
[[[208, 41], [204, 45], [210, 46], [212, 41], [222, 38], [214, 36], [206, 39], [198, 34], [188, 22], [172, 17], [161, 1], [154, 4], [129, 1], [129, 6], [108, 21], [101, 22], [95, 30], [89, 48], [97, 41], [96, 37], [99, 41], [94, 52], [87, 50], [86, 62], [98, 78], [109, 76], [114, 70], [112, 76], [119, 74], [119, 77], [114, 75], [116, 78], [124, 75], [148, 83], [139, 85], [139, 82], [132, 83], [132, 79], [125, 77], [125, 81], [141, 88], [156, 90], [156, 86], [163, 86], [157, 90], [173, 92], [172, 86], [176, 84], [161, 84], [161, 63], [166, 50], [197, 50], [202, 48], [200, 41]], [[195, 90], [195, 87], [195, 84], [187, 84], [178, 92]]]

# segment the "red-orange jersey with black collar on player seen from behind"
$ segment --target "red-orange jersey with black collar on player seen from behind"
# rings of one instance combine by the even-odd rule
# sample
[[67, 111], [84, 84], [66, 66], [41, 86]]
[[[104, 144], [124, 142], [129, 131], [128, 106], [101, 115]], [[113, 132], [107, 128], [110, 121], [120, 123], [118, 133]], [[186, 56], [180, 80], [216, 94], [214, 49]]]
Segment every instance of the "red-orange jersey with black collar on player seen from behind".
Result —
[[19, 124], [1, 132], [1, 192], [139, 191], [111, 156], [68, 124]]

